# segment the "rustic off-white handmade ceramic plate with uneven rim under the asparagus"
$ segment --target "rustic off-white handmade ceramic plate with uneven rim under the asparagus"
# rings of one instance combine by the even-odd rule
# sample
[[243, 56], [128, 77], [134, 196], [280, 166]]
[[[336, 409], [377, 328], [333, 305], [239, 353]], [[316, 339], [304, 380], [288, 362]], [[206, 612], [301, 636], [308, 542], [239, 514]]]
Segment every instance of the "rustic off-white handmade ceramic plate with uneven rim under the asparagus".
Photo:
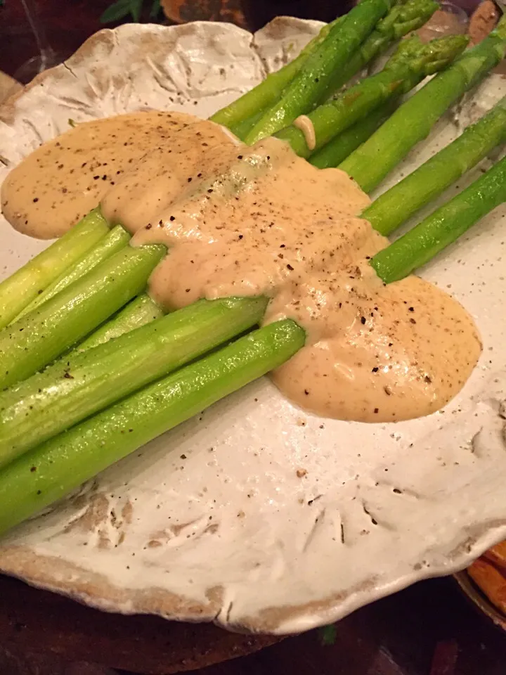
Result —
[[[102, 31], [1, 110], [0, 180], [69, 119], [207, 116], [316, 30], [280, 19], [254, 36], [219, 23]], [[488, 80], [390, 182], [505, 93]], [[506, 537], [505, 223], [496, 211], [422, 271], [465, 304], [484, 340], [446, 409], [397, 424], [326, 420], [264, 378], [15, 529], [0, 570], [111, 612], [282, 634], [465, 567]], [[0, 227], [6, 275], [44, 244]]]

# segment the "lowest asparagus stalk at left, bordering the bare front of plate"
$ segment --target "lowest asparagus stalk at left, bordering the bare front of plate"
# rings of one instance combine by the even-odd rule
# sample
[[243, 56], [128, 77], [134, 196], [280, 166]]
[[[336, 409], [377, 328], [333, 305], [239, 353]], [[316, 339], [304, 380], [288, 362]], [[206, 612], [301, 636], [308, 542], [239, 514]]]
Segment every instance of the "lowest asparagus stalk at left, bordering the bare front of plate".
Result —
[[304, 340], [290, 319], [271, 323], [20, 456], [0, 471], [0, 532], [280, 366]]

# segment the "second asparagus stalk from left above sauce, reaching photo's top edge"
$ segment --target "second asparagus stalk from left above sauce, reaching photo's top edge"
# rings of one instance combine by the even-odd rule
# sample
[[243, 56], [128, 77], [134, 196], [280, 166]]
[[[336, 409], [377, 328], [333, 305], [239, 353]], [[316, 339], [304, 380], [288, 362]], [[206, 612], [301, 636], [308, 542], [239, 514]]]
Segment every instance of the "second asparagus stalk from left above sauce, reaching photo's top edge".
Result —
[[280, 100], [255, 124], [246, 137], [251, 144], [271, 136], [325, 99], [333, 73], [344, 68], [358, 46], [389, 11], [388, 0], [362, 0], [337, 25], [327, 39], [309, 56], [304, 68], [295, 75]]

